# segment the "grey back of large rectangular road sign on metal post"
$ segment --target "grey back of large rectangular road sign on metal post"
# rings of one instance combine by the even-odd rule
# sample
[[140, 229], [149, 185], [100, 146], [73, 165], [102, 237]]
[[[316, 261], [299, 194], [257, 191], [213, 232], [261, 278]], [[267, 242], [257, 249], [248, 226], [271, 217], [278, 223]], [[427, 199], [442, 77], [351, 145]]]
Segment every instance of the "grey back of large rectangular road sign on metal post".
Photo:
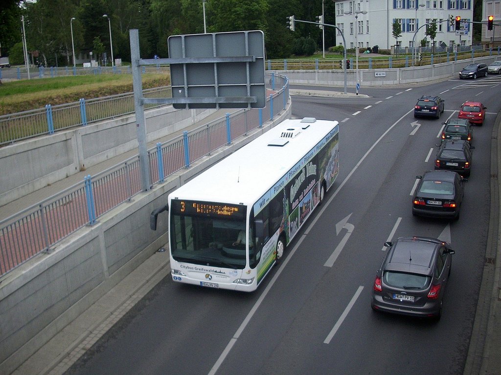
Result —
[[172, 35], [168, 46], [174, 108], [266, 106], [263, 31]]

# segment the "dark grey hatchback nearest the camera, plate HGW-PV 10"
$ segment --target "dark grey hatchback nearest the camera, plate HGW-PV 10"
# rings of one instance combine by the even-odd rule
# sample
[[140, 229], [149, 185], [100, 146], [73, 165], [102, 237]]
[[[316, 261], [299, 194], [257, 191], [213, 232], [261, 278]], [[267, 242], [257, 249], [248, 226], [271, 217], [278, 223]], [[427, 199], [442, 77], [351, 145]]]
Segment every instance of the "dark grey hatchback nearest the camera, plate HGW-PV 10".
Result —
[[428, 237], [400, 237], [384, 245], [390, 248], [376, 273], [371, 307], [439, 319], [454, 253], [449, 243]]

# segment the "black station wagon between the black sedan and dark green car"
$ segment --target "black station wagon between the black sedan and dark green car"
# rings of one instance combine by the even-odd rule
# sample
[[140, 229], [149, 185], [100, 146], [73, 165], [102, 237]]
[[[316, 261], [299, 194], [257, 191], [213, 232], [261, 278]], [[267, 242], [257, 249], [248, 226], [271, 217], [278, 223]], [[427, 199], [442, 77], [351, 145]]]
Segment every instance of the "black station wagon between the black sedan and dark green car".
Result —
[[472, 149], [467, 140], [445, 139], [437, 144], [435, 169], [453, 170], [465, 177], [471, 173]]

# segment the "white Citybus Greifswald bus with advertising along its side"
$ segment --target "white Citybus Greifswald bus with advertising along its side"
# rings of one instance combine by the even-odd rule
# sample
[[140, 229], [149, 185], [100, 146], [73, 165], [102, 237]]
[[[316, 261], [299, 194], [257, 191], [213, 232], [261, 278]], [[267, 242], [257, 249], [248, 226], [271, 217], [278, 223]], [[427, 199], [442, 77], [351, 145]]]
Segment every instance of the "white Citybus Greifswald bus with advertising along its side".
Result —
[[171, 192], [172, 279], [255, 290], [332, 186], [338, 143], [338, 121], [288, 119]]

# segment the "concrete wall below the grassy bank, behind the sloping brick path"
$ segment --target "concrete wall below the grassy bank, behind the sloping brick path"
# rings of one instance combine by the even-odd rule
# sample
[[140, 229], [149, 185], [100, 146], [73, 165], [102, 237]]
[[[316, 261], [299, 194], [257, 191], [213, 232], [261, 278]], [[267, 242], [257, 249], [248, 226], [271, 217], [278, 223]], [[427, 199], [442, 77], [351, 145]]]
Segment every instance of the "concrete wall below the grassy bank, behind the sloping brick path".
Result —
[[[161, 138], [214, 111], [174, 109], [171, 105], [148, 110], [145, 112], [146, 140]], [[0, 205], [134, 148], [137, 148], [135, 115], [1, 147]]]

